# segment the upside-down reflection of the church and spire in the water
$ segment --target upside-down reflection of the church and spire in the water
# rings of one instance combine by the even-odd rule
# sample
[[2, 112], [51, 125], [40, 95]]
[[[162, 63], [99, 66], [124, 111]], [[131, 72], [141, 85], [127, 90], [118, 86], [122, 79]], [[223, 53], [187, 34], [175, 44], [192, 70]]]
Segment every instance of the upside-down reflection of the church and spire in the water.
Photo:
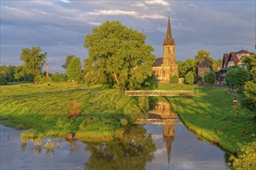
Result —
[[163, 120], [163, 137], [168, 153], [168, 163], [170, 163], [171, 145], [175, 141], [175, 124], [178, 121], [178, 115], [175, 114], [175, 110], [170, 103], [158, 101], [154, 110], [149, 111], [148, 119]]

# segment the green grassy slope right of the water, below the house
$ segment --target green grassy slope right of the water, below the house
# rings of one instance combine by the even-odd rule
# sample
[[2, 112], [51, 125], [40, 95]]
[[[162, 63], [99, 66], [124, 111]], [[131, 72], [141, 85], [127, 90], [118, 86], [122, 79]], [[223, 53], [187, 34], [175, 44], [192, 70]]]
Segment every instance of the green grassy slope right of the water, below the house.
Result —
[[[158, 89], [197, 93], [197, 87], [185, 85], [159, 84]], [[199, 87], [198, 92], [198, 97], [168, 97], [187, 128], [231, 153], [239, 144], [256, 140], [253, 113], [239, 104], [234, 107], [233, 98], [239, 99], [238, 95], [220, 88]]]

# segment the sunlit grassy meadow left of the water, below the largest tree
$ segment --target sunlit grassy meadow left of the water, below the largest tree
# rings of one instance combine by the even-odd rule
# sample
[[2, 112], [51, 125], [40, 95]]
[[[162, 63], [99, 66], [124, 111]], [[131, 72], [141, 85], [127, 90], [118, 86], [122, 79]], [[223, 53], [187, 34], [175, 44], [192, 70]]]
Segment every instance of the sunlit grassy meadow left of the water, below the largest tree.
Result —
[[[23, 83], [1, 86], [1, 124], [29, 129], [25, 137], [59, 136], [74, 132], [81, 141], [109, 141], [140, 116], [136, 100], [101, 85], [88, 89], [72, 83]], [[81, 116], [69, 118], [67, 104], [78, 100]]]

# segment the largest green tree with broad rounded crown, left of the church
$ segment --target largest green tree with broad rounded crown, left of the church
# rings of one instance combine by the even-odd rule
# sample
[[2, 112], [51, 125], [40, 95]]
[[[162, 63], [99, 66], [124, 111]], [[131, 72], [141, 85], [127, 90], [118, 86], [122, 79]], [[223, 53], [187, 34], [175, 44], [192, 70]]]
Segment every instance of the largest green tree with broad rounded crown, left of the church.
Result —
[[104, 83], [122, 90], [139, 88], [152, 75], [151, 66], [156, 59], [152, 54], [154, 48], [147, 45], [145, 39], [144, 34], [120, 22], [103, 23], [85, 37], [84, 46], [89, 55], [85, 59], [85, 72], [101, 72], [95, 74], [101, 76]]

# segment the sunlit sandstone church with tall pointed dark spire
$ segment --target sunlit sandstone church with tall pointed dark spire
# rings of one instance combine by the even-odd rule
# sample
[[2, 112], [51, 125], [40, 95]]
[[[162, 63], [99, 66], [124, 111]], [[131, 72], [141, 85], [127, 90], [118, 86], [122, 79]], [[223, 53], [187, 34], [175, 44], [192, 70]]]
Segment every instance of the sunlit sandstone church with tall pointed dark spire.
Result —
[[170, 81], [170, 76], [178, 76], [178, 65], [175, 61], [175, 39], [171, 36], [171, 21], [168, 17], [168, 26], [163, 43], [163, 57], [157, 58], [153, 72], [159, 82]]

